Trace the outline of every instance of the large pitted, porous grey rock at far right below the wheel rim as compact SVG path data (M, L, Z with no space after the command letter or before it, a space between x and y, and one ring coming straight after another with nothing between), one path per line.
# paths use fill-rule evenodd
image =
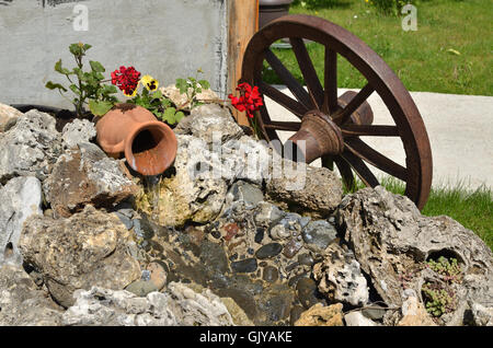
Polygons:
M456 258L460 279L450 290L459 304L444 316L444 324L458 324L467 301L493 302L493 254L472 231L448 217L424 217L406 197L383 187L365 188L342 200L337 225L345 241L354 247L362 269L389 306L402 305L402 289L413 289L419 297L425 282L450 282L426 267L439 256Z

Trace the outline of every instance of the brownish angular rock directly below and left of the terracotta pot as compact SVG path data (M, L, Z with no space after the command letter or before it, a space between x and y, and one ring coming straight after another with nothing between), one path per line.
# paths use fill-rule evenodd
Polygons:
M56 216L69 217L85 205L113 208L137 193L137 186L98 146L83 142L67 150L43 185Z

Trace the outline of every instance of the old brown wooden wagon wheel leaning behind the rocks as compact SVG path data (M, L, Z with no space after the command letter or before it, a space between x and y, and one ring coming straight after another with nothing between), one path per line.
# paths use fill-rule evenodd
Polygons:
M288 38L308 92L271 50L271 45ZM306 40L325 47L323 86L309 57ZM337 55L343 56L367 80L358 92L337 95ZM287 85L295 98L263 81L263 63ZM250 40L242 66L243 82L257 85L263 95L296 115L300 121L275 121L264 106L255 113L256 124L267 140L278 139L276 130L297 131L289 140L306 140L305 160L322 158L335 163L346 185L354 171L367 185L379 182L366 163L405 182L405 195L422 209L432 185L432 153L425 126L410 93L395 73L358 37L329 21L310 15L283 16L263 27ZM394 125L372 125L366 102L378 93ZM399 137L405 151L405 167L369 147L359 137Z

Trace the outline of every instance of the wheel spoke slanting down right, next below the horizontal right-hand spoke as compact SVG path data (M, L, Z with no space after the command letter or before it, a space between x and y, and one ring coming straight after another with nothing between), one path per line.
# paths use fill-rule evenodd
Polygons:
M400 178L401 181L408 181L408 170L405 167L393 162L380 152L375 151L359 138L346 139L345 146L351 152L365 160L369 164L397 178Z

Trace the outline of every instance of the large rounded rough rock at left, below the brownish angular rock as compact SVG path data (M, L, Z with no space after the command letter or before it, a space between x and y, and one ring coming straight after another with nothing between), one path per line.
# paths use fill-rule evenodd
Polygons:
M127 252L128 239L114 214L87 206L68 219L27 219L19 248L24 263L43 275L53 298L68 308L77 289L119 290L140 278L139 264Z

